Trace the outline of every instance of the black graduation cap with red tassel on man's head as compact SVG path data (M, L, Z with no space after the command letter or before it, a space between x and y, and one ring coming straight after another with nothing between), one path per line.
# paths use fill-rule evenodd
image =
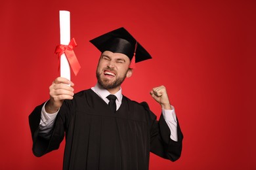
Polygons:
M135 68L135 63L152 58L145 48L123 27L100 35L90 42L100 52L108 50L110 52L125 54L131 60L131 69Z

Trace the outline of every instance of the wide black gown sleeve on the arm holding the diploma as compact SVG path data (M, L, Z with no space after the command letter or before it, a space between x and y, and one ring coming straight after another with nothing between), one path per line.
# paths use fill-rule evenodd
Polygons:
M43 103L44 104L44 103ZM52 150L56 150L59 148L60 143L64 139L64 131L67 119L67 112L70 109L67 109L67 103L64 101L58 115L56 116L56 120L54 122L53 130L50 131L51 137L50 139L45 139L39 135L39 124L41 120L41 109L43 104L35 107L33 112L29 116L29 123L30 123L30 131L32 133L32 140L33 140L33 154L37 157L43 156Z

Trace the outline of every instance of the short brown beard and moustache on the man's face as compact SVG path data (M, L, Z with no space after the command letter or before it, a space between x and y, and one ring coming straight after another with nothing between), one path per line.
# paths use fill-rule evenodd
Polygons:
M110 69L108 69L108 70L110 70ZM127 72L128 72L128 70L127 70ZM125 75L126 75L126 73L125 73ZM117 76L116 80L114 80L114 82L110 82L110 80L100 77L100 73L99 73L98 69L96 71L96 78L98 80L98 84L100 84L100 86L102 86L105 89L112 89L112 88L116 88L117 86L120 86L126 78L125 75Z

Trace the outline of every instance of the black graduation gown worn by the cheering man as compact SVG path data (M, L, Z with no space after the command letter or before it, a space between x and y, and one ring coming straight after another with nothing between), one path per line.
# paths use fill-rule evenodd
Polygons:
M33 154L58 149L65 135L63 169L148 169L150 152L171 161L181 156L179 125L175 142L163 116L158 122L146 103L123 96L114 114L93 90L84 90L64 101L50 139L38 133L42 106L29 116Z

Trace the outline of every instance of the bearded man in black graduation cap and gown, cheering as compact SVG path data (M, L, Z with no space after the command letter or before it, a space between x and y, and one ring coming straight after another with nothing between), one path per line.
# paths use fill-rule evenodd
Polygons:
M148 169L149 152L177 160L182 133L165 87L150 92L163 110L159 122L146 103L121 93L135 62L150 54L123 27L91 42L102 52L96 86L74 94L73 82L54 80L49 101L30 114L33 154L57 149L65 135L63 169Z

